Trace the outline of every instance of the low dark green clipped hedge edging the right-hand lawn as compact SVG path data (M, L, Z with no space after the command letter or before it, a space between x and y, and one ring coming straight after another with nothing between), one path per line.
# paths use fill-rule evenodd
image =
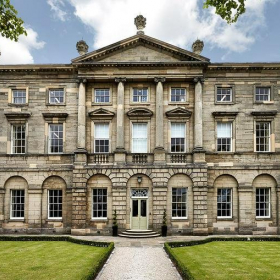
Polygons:
M178 247L187 247L187 246L195 246L195 245L201 245L206 244L213 241L280 241L280 237L210 237L203 240L191 240L191 241L183 241L183 242L165 242L164 243L164 249L166 253L168 254L171 261L176 266L177 270L181 274L182 278L184 280L194 280L194 277L192 276L191 272L187 267L184 266L184 264L178 259L173 253L172 248L178 248Z

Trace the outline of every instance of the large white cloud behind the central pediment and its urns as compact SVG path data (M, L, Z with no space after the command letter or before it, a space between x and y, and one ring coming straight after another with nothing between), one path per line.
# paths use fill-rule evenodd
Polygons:
M201 0L64 1L70 2L75 15L94 29L94 48L136 34L133 20L141 13L147 18L145 34L149 36L188 49L199 38L226 52L243 52L254 43L265 23L265 5L275 0L247 0L246 14L232 25L215 15L214 9L202 10Z

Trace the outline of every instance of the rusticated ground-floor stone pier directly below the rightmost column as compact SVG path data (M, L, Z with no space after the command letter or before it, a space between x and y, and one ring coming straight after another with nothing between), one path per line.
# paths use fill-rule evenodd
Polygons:
M208 235L207 169L194 169L193 180L193 234Z

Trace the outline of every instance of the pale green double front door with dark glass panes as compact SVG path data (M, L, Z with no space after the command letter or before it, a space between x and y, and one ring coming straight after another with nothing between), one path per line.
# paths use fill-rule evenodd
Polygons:
M131 229L147 229L148 199L132 198L131 205Z

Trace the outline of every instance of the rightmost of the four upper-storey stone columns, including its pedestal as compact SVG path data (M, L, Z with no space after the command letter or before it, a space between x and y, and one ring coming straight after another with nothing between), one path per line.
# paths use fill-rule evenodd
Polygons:
M205 151L203 150L203 128L202 128L202 78L195 78L195 102L194 102L194 149L193 162L205 162Z

